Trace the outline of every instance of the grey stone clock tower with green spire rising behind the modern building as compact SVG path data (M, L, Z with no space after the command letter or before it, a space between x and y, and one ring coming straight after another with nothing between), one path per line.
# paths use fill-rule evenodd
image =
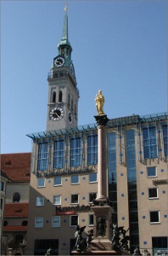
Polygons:
M67 7L64 8L63 36L58 55L48 74L47 131L77 126L79 90L71 60L72 47L68 39Z

